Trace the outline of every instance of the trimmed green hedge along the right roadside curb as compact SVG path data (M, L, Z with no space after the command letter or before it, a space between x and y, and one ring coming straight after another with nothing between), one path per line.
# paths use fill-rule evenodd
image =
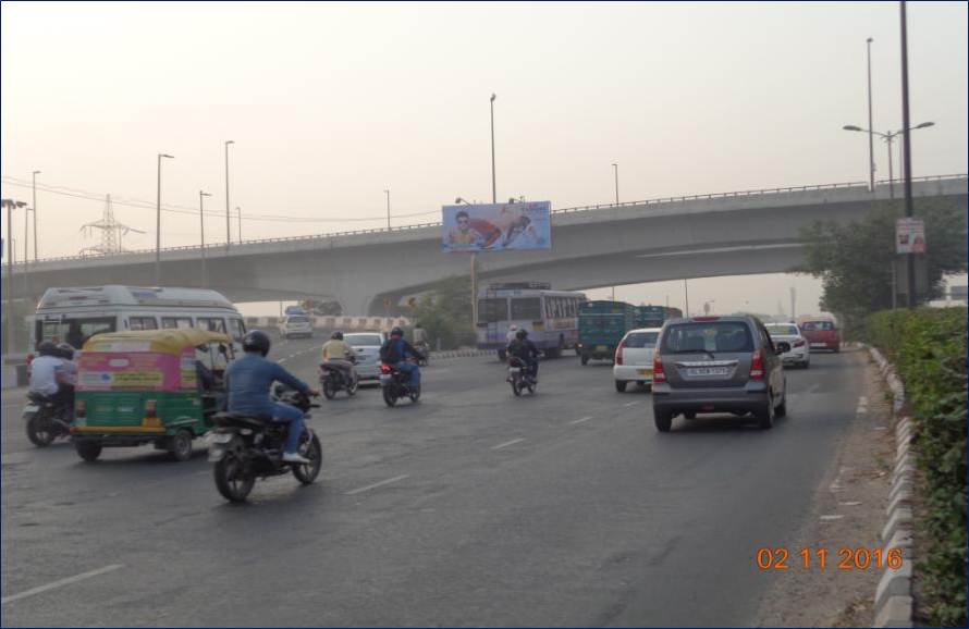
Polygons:
M866 336L905 383L928 514L918 570L927 620L965 627L966 617L966 308L888 310L866 320Z

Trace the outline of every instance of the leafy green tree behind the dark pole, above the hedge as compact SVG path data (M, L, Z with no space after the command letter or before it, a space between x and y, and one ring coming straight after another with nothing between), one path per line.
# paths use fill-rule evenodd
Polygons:
M801 230L805 263L795 272L820 278L822 309L834 312L847 330L867 314L892 307L895 220L899 201L880 201L860 221L818 221ZM942 293L946 273L966 271L966 208L947 199L916 199L915 215L925 222L929 295Z

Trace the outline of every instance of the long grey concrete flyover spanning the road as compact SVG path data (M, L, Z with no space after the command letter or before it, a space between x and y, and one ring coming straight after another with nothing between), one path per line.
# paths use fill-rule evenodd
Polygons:
M920 177L913 194L966 207L967 176ZM856 220L873 198L888 197L887 183L874 195L862 183L830 184L555 210L551 251L480 255L479 278L586 289L784 272L801 260L801 225ZM396 305L443 278L466 274L469 266L467 256L441 251L437 223L217 245L206 247L206 258L208 287L234 301L329 297L346 312L371 316L393 313L385 300ZM49 286L150 285L154 262L154 250L40 260L32 264L28 296ZM199 286L200 249L164 249L162 283ZM23 282L13 287L15 298L24 295Z

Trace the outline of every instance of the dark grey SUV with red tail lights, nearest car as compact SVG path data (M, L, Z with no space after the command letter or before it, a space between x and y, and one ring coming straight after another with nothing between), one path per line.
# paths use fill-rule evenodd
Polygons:
M674 319L663 325L653 355L653 418L667 432L679 414L752 412L760 428L787 412L787 380L774 343L750 316Z

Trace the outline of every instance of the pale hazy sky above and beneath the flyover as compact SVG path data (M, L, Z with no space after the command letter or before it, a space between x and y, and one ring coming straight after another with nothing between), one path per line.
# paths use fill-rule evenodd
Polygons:
M912 123L935 123L912 173L965 173L967 4L908 13ZM898 130L894 2L4 1L0 187L29 201L41 171L41 257L97 245L81 226L107 194L144 232L125 246L150 248L171 153L162 202L184 213L163 213L162 246L198 243L199 190L207 240L224 242L231 139L233 239L236 207L246 239L381 226L385 189L393 224L431 222L456 196L490 200L492 92L502 199L610 202L612 163L623 201L863 182L867 138L842 127L867 125L868 37L874 128ZM883 143L875 161L887 177ZM821 294L787 275L696 282L725 309L774 312L795 286L810 311Z

